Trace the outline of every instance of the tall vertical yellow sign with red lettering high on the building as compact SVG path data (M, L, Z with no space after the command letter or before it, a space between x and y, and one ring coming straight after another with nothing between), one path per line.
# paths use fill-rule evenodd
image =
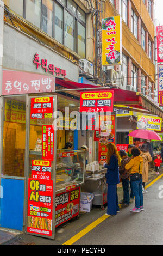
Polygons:
M122 19L102 19L102 65L122 64Z

